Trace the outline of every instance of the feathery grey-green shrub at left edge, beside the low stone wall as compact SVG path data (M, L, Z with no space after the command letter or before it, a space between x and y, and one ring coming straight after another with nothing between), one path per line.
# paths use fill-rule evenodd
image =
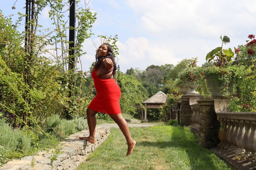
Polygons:
M0 129L0 145L4 146L5 150L30 151L31 138L25 135L21 130L12 130L10 125L1 121Z

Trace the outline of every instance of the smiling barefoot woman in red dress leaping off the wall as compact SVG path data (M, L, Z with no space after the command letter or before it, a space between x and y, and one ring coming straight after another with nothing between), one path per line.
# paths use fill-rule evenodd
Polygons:
M86 110L90 135L89 137L79 138L94 144L96 127L95 115L98 112L106 113L116 122L123 132L128 145L128 151L125 156L129 156L136 142L132 140L128 124L121 114L119 105L121 91L114 79L115 73L116 63L113 57L113 49L109 44L103 43L96 51L96 64L92 71L92 78L97 95Z

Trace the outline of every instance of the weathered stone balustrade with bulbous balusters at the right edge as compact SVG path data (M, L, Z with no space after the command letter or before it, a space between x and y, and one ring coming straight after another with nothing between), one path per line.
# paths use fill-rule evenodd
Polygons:
M238 146L245 151L256 151L256 113L222 112L216 113L221 123L220 146Z

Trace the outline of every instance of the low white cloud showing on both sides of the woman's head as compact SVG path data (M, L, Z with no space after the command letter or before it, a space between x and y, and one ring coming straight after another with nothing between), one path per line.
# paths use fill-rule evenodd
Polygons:
M100 44L100 39L94 39L93 42ZM144 37L129 38L125 43L117 42L119 56L117 64L121 71L127 69L140 68L145 70L149 65L164 65L166 63L176 65L179 59L175 58L172 49L163 44L155 44ZM89 70L89 67L95 62L96 47L91 40L85 40L84 51L86 55L81 57L83 70Z

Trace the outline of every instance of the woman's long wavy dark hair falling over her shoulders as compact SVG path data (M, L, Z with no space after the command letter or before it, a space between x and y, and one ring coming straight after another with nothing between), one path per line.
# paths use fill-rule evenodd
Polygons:
M96 62L95 62L95 65L94 65L93 69L95 69L95 68L98 69L104 58L110 58L113 62L113 66L114 66L113 76L115 76L115 74L116 74L116 62L115 62L115 59L114 59L114 56L113 56L113 48L111 47L110 44L107 44L107 43L103 43L103 44L105 44L108 47L108 53L107 53L107 55L105 55L105 56L103 56L102 58L99 59L99 57L97 55L97 50L96 50L96 55L95 55Z

